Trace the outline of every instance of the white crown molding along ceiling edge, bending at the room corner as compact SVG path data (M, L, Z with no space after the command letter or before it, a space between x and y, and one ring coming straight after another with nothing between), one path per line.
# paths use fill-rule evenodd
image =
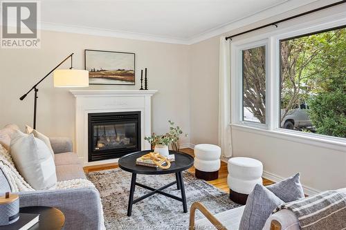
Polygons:
M121 30L109 30L102 28L92 28L92 27L84 27L84 26L71 26L60 23L48 23L42 22L41 28L42 30L51 30L57 32L71 32L83 35L95 35L102 37L117 37L123 39L136 39L143 41L156 41L170 44L181 44L181 45L192 45L199 43L200 41L210 39L211 37L215 37L218 35L225 34L232 30L236 30L242 28L244 26L251 25L251 23L255 23L256 21L262 21L264 19L268 19L270 17L275 17L284 12L288 12L289 10L294 10L296 8L301 8L302 6L309 5L318 0L306 0L304 3L300 0L285 0L282 3L277 3L275 6L271 6L270 8L266 8L264 10L257 11L252 15L248 15L243 17L242 19L237 19L235 21L230 21L225 23L224 25L218 26L216 28L212 28L206 32L203 32L194 37L190 37L188 39L179 38L179 37L164 37L158 35L149 35L143 33L136 32L127 32ZM327 0L332 1L332 0Z

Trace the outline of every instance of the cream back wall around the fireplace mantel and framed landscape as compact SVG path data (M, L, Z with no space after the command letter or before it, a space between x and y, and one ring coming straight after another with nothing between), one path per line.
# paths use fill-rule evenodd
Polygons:
M0 127L9 123L33 124L33 92L19 97L66 56L75 52L75 68L84 68L84 49L136 53L136 86L90 86L91 89L139 89L140 69L148 68L149 89L158 90L152 99L152 131L165 133L168 119L190 133L188 46L152 41L116 39L42 31L40 49L0 50ZM65 68L69 68L69 61ZM70 88L53 88L49 76L39 85L37 129L49 136L74 138L75 98ZM189 143L188 137L182 137Z

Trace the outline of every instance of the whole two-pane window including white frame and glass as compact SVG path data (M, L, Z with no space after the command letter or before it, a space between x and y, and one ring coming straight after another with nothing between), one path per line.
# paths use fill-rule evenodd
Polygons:
M345 25L321 18L233 39L231 126L345 151Z

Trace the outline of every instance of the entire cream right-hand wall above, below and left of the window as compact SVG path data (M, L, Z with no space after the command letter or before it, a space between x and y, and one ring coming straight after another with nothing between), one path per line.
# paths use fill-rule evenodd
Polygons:
M317 1L310 6L286 12L284 15L258 21L252 25L238 30L230 31L226 35L255 28L265 23L283 19L300 12L305 12L319 6L324 6L331 1ZM346 6L323 10L313 15L280 23L280 28L296 25L307 20L334 15L345 12ZM247 37L269 32L275 28L264 28L257 32L235 37ZM191 76L190 86L190 124L192 144L202 142L217 143L218 133L218 68L219 68L219 36L201 41L190 46ZM246 129L233 129L233 156L248 156L261 160L267 175L275 178L286 178L296 172L301 172L302 183L310 187L311 191L337 189L346 187L346 149L336 151L327 147L302 144L279 137L251 133ZM309 191L307 191L309 193Z

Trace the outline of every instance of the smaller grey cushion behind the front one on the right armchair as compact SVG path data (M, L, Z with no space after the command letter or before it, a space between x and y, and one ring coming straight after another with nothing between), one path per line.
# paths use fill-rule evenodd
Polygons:
M297 173L291 178L266 186L266 188L284 202L292 202L305 197L299 178L300 173Z

